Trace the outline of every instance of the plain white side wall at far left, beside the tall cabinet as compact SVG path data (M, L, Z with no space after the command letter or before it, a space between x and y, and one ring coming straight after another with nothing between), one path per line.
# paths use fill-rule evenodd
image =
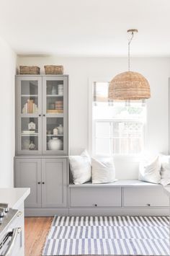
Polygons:
M14 180L14 75L17 57L0 38L0 187Z

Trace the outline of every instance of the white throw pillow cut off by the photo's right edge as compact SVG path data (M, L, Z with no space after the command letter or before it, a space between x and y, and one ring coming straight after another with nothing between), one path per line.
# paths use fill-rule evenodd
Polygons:
M166 186L170 184L170 156L161 154L161 184Z

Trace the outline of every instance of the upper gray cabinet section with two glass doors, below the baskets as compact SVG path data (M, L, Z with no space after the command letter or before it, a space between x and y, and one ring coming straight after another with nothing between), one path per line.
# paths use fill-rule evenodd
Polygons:
M68 76L17 76L17 155L68 155Z

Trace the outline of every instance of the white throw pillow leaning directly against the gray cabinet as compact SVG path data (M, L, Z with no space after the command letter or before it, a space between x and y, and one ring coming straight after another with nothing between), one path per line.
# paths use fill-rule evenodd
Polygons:
M81 156L69 156L69 164L74 184L79 185L91 180L91 158L86 150Z

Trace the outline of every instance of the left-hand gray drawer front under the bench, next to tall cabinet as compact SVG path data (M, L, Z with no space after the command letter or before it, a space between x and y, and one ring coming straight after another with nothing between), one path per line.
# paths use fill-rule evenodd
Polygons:
M121 206L120 187L71 187L71 207Z

